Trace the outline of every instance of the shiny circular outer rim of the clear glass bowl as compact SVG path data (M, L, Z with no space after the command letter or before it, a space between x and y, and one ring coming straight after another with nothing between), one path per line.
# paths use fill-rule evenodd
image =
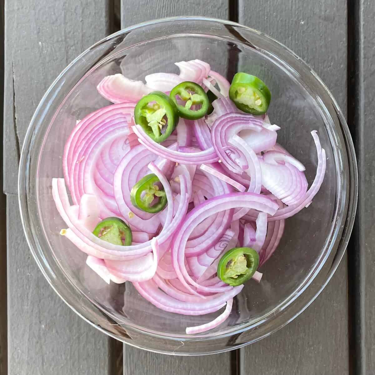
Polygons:
M211 23L219 23L219 24L222 24L222 25L229 25L229 26L233 26L233 27L236 27L236 28L245 29L245 30L250 31L252 33L259 34L259 36L261 36L265 40L272 41L274 44L277 45L278 48L283 49L283 51L288 53L292 58L298 59L299 62L303 64L303 68L309 69L310 73L315 77L316 81L321 86L321 88L324 90L325 94L327 94L331 104L333 105L334 111L336 112L338 120L340 122L340 128L341 128L341 131L342 131L343 140L345 141L346 152L347 152L347 162L348 162L348 168L349 168L348 177L349 177L349 184L350 184L349 190L350 191L349 191L349 194L348 194L348 207L347 207L347 211L346 211L346 217L343 216L343 218L342 218L342 221L345 222L345 223L343 225L344 227L343 227L341 239L336 239L336 240L339 240L340 243L337 245L336 257L333 260L333 263L331 265L331 268L330 268L330 270L327 274L327 278L325 279L324 283L322 283L320 285L320 287L316 289L315 294L312 297L310 297L310 299L306 302L306 304L302 308L298 309L298 311L296 313L294 313L287 321L285 321L283 324L281 324L277 327L274 327L274 329L269 330L265 335L262 335L261 337L255 339L255 340L245 342L245 343L241 343L241 344L238 344L238 345L233 345L233 346L230 346L230 347L225 347L223 350L215 350L215 351L212 351L212 352L205 352L205 353L179 352L178 353L180 355L200 355L200 354L204 355L204 354L221 353L221 352L224 352L224 351L239 348L239 347L242 347L244 345L250 344L252 342L258 341L258 340L260 340L264 337L267 337L267 336L271 335L271 333L276 332L277 330L279 330L280 328L282 328L283 326L288 324L290 321L294 320L294 318L296 318L298 315L300 315L316 299L316 297L321 293L321 291L324 289L325 285L327 285L328 281L333 276L333 273L336 271L343 255L345 254L346 246L347 246L348 241L349 241L349 236L351 234L351 231L352 231L352 228L353 228L353 225L354 225L354 218L355 218L355 212L356 212L356 208L357 208L357 197L358 197L358 172L357 172L357 161L356 161L356 158L355 158L354 145L353 145L353 142L352 142L352 139L351 139L351 136L350 136L348 126L347 126L346 121L345 121L345 117L343 116L343 113L340 110L336 100L333 98L333 95L328 90L328 88L325 86L323 81L318 77L318 75L315 73L315 71L313 71L310 68L310 66L306 62L304 62L303 59L298 57L291 49L289 49L288 47L286 47L282 43L278 42L276 39L268 36L265 33L262 33L261 31L255 30L254 28L250 28L250 27L241 25L239 23L235 23L233 21L220 20L220 19L217 19L217 18L209 18L209 17L195 17L195 16L167 17L167 18L160 18L160 19L155 19L155 20L151 20L151 21L146 21L146 22L143 22L143 23L139 23L139 24L124 28L122 30L117 31L116 33L113 33L113 34L110 34L110 35L104 37L103 39L99 40L98 42L96 42L95 44L93 44L92 46L87 48L80 55L78 55L78 57L76 57L58 75L56 80L53 81L53 83L48 88L47 92L44 94L43 98L39 102L39 105L36 108L36 111L35 111L32 119L31 119L29 127L27 129L26 136L25 136L24 143L23 143L22 152L21 152L20 168L19 168L19 175L18 175L18 201L19 201L19 207L20 207L20 212L21 212L21 222L22 222L24 233L26 235L26 240L27 240L27 243L29 245L30 251L32 252L33 258L35 259L36 263L38 264L38 267L41 269L41 271L42 271L44 277L47 279L48 283L51 285L53 290L60 296L60 298L75 313L77 313L81 318L83 318L85 321L87 321L89 324L96 327L100 331L106 333L107 335L109 335L109 336L111 336L111 337L113 337L117 340L126 342L127 344L138 347L138 348L142 348L142 349L145 349L145 350L154 351L154 352L158 352L158 353L170 354L171 353L170 351L155 350L155 348L150 349L148 347L143 347L143 345L135 344L133 341L127 341L122 336L118 336L118 335L114 334L113 332L108 331L108 329L106 329L106 328L104 328L104 327L102 327L98 324L95 324L92 320L90 320L89 317L87 317L86 315L84 315L80 311L78 311L78 309L75 306L72 306L72 303L70 303L67 296L63 296L62 293L60 293L60 291L55 286L55 284L53 282L53 279L51 278L51 275L48 273L48 272L51 272L51 270L48 269L48 267L46 267L45 264L43 264L41 259L38 257L38 251L34 248L34 246L38 246L38 245L35 242L35 238L33 238L33 234L30 232L29 228L27 227L27 225L29 224L29 221L30 221L29 220L29 214L30 213L27 209L27 206L28 206L27 205L28 189L27 189L27 181L26 181L27 179L24 178L23 168L25 168L25 166L28 165L27 162L29 161L29 158L28 158L29 148L30 148L30 143L31 143L32 138L33 138L33 133L36 131L36 120L37 120L37 117L42 112L43 107L46 104L46 101L48 99L48 96L55 89L55 87L59 83L59 81L62 80L62 78L65 76L65 74L81 58L84 58L84 56L86 54L88 54L92 49L95 49L97 46L100 46L102 43L105 43L105 42L107 42L111 39L114 39L118 36L121 36L123 34L129 33L132 30L136 30L136 29L146 27L146 26L150 26L150 25L154 25L154 24L163 24L163 23L175 22L175 21L202 21L202 22L207 21L207 22L211 22ZM24 194L24 196L23 196L23 194ZM334 240L333 243L335 243L336 240ZM330 252L332 251L332 248L333 248L333 245L330 245ZM328 255L330 254L330 252L328 253ZM327 261L327 257L325 258L322 266L324 266L326 261ZM307 283L305 283L305 285L303 285L301 290L298 290L298 294L295 296L295 298L290 299L289 298L290 296L287 298L287 300L289 300L289 302L288 302L288 304L286 304L286 306L289 306L291 303L293 303L294 300L297 299L313 283L313 281L315 280L319 271L320 271L320 268L313 273L312 277L309 279L309 281ZM72 287L77 288L74 285L72 285ZM127 325L124 323L124 326L127 326ZM241 326L243 326L243 324ZM194 336L191 336L191 339L185 338L185 337L184 338L182 338L182 337L181 338L179 338L179 337L167 337L165 335L164 336L156 335L156 336L158 336L160 338L163 338L164 340L169 339L169 340L175 340L175 341L178 341L178 342L184 341L185 343L186 342L197 342L197 341L208 341L209 342L213 339L219 339L219 338L225 338L225 337L228 337L228 336L238 335L239 333L246 332L250 328L251 328L251 326L248 325L246 327L241 327L241 328L238 328L238 329L230 330L230 332L224 332L224 333L216 334L216 335L211 336L211 337L204 337L202 339L194 337ZM142 333L143 335L146 335L146 336L147 335L148 336L154 336L152 333L150 333L146 330L139 330L139 332Z

